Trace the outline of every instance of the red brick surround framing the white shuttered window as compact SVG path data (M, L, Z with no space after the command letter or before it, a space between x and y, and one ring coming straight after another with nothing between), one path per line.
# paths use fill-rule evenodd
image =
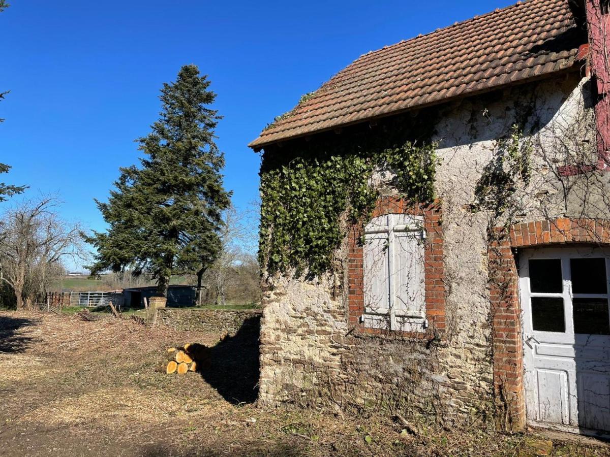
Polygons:
M384 214L412 214L423 216L426 230L424 251L426 317L429 328L445 328L445 267L443 263L443 227L440 202L432 205L409 205L398 197L382 197L377 201L373 217ZM365 328L359 319L364 314L364 258L362 257L361 228L350 228L348 236L348 315L350 326L363 333L380 334L387 330ZM393 332L409 338L425 338L429 333Z

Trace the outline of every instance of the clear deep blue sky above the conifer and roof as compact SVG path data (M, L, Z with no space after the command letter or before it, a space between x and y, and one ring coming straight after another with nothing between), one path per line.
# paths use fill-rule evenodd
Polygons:
M260 161L246 144L301 94L365 52L511 3L13 0L0 14L0 162L13 169L0 180L57 193L64 218L102 230L93 198L137 161L162 83L195 63L218 94L224 182L244 209Z

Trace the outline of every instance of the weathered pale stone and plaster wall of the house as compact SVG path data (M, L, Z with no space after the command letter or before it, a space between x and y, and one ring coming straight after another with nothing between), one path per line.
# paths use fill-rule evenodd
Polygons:
M428 331L425 338L406 338L390 331L366 335L350 324L346 238L336 255L343 261L343 278L306 280L287 274L269 280L261 322L259 401L400 410L448 425L493 414L487 253L489 228L506 221L490 211L473 211L476 184L493 160L497 139L519 124L530 132L535 151L531 183L515 195L521 211L512 217L529 222L573 211L581 217L587 212L610 217L608 202L599 204L607 178L595 190L577 180L566 188L556 175L557 166L583 159L576 157L578 147L594 146L586 86L586 79L570 74L437 108L445 328ZM585 197L590 203L583 203Z

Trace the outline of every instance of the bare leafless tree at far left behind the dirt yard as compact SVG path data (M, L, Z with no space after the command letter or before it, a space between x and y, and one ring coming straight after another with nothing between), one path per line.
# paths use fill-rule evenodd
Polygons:
M63 272L62 260L84 252L81 226L57 216L57 199L27 200L9 209L0 222L0 280L24 308Z

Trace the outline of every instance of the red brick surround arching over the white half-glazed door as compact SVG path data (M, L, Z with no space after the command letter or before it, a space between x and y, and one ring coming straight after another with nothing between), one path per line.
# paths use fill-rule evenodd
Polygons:
M551 219L496 228L490 233L489 292L492 310L493 386L505 409L503 427L526 424L519 272L515 252L526 247L610 244L608 219Z

